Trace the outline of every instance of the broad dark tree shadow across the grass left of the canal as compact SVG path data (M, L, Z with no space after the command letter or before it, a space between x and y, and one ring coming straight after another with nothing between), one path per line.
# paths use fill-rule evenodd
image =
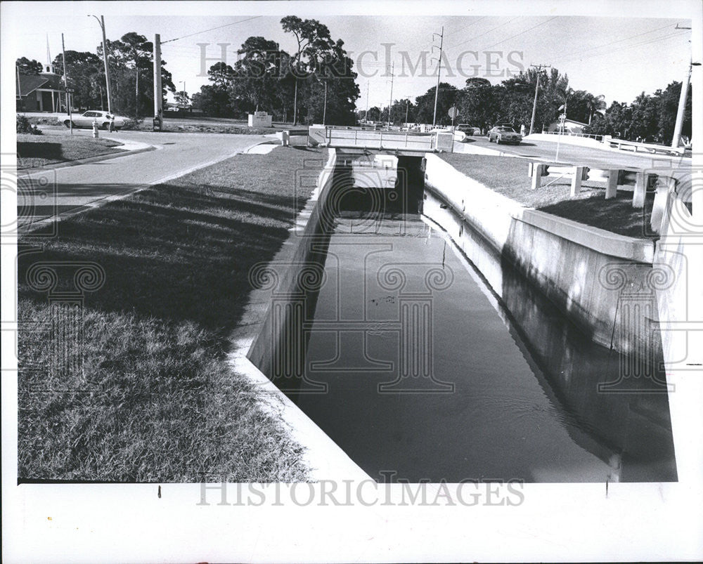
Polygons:
M294 204L292 195L224 186L149 188L62 223L63 244L20 258L19 295L46 303L24 283L37 261L93 261L105 285L86 296L86 307L192 321L225 336L246 304L249 269L288 237ZM57 289L71 284L59 280Z

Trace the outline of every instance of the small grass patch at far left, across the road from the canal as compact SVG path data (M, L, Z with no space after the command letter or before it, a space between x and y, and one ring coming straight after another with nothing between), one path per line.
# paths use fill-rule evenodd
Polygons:
M120 145L122 143L102 138L93 139L84 136L71 137L46 133L37 136L18 133L17 168L18 170L34 169L47 164L122 152L120 149L114 148Z

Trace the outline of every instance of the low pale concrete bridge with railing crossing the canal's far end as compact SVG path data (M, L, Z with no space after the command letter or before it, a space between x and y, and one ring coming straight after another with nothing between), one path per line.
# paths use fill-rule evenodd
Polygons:
M381 152L418 157L426 152L452 152L451 131L415 133L382 131L360 127L311 126L309 141L313 145L343 149L344 152Z

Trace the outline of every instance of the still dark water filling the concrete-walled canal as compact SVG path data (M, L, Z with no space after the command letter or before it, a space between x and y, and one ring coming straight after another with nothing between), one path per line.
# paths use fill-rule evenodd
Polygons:
M446 206L421 183L347 165L303 321L306 385L285 393L349 457L380 481L676 480L666 393L598 391L617 355L494 256L498 297L423 216Z

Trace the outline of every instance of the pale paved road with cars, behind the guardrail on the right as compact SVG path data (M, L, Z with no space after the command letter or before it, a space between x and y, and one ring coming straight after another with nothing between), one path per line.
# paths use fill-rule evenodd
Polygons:
M538 157L554 160L557 157L557 143L544 140L525 140L520 145L496 145L489 143L487 137L471 137L469 143L462 145L475 145L502 152L511 152L522 157ZM468 148L468 147L467 147ZM644 155L624 151L581 147L559 143L559 162L568 164L583 164L591 168L614 169L618 167L651 169L673 166L676 168L689 167L690 158L667 157L664 155Z

